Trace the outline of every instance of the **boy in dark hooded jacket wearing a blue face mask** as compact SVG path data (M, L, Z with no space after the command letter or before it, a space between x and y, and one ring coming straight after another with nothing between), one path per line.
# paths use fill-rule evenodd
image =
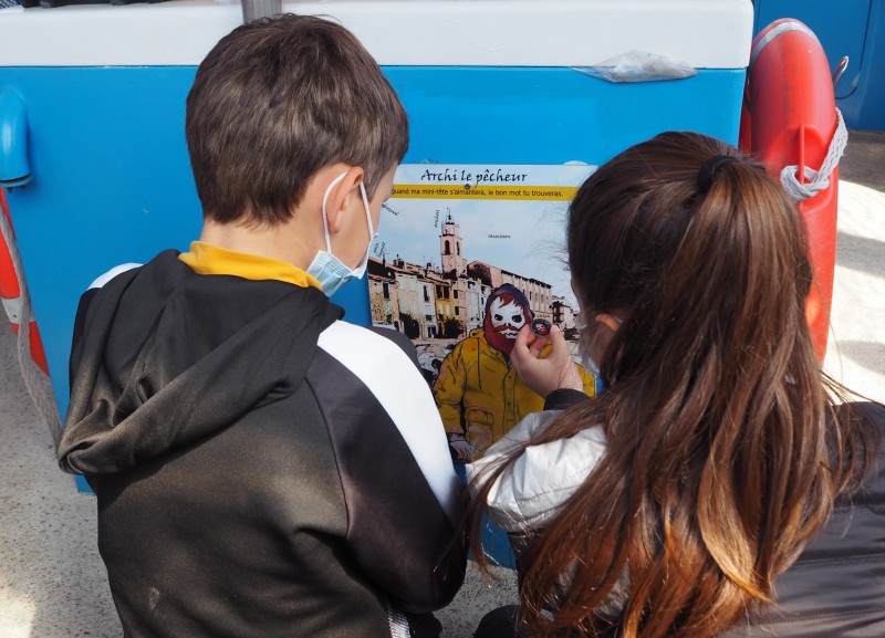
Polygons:
M441 422L407 339L326 296L365 270L403 106L345 29L281 15L208 54L186 134L200 240L83 295L59 449L124 632L434 635L465 569Z

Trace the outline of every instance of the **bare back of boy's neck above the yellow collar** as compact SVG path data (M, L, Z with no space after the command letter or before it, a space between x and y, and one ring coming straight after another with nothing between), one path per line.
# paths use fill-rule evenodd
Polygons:
M200 241L248 254L268 257L306 269L316 255L316 249L299 241L292 223L274 227L246 228L236 223L205 220Z

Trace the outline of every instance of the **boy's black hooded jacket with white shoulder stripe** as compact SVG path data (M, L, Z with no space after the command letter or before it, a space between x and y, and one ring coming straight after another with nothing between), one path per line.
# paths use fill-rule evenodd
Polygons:
M125 636L397 636L450 602L457 479L410 343L177 255L84 294L71 356L59 458Z

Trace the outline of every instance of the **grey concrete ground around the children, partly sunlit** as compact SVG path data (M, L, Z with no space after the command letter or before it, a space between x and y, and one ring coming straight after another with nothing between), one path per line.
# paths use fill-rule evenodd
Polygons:
M841 165L839 252L825 367L885 401L885 133L853 132ZM122 635L95 547L95 500L55 464L52 438L19 375L0 322L0 638ZM512 572L471 568L438 614L446 638L469 638L489 609L516 598Z

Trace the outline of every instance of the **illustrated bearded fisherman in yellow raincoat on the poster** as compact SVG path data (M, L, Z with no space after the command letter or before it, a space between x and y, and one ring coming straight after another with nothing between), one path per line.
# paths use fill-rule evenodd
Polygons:
M525 387L510 366L517 334L532 320L525 295L503 284L486 301L482 327L471 331L442 360L434 397L454 460L481 457L525 415L543 409L544 399ZM592 395L594 378L575 365L584 391Z

